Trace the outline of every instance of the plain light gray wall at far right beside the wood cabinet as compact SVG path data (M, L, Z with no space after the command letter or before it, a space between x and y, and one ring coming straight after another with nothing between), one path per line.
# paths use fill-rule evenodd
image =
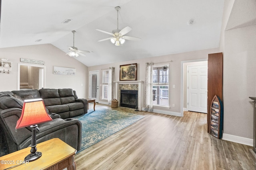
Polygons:
M255 0L225 1L220 49L224 52L224 139L231 141L232 135L253 139L253 105L248 97L256 96L255 13Z

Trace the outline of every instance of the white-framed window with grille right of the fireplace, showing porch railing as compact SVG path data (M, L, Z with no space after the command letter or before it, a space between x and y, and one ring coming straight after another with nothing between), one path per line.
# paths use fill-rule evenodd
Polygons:
M169 107L169 64L153 64L153 105Z

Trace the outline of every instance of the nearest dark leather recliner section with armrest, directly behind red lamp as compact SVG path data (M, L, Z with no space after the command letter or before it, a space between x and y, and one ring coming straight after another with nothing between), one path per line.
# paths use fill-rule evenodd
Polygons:
M0 123L8 141L9 153L24 149L31 145L31 128L15 129L22 109L10 108L0 111ZM81 147L82 123L77 119L60 119L38 124L40 131L36 131L36 142L41 143L52 138L59 138L76 150Z

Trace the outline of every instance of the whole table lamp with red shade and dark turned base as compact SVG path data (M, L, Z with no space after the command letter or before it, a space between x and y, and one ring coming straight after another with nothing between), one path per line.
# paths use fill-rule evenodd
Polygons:
M39 123L52 121L52 118L46 112L42 99L24 100L20 119L16 124L16 129L30 126L32 129L32 140L30 154L25 157L26 161L34 161L42 156L42 152L36 152L36 129Z

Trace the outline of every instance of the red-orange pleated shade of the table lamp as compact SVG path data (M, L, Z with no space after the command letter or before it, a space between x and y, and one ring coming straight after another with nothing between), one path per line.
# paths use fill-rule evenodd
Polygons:
M28 127L51 121L52 118L46 112L42 99L24 100L20 119L17 121L16 129Z

